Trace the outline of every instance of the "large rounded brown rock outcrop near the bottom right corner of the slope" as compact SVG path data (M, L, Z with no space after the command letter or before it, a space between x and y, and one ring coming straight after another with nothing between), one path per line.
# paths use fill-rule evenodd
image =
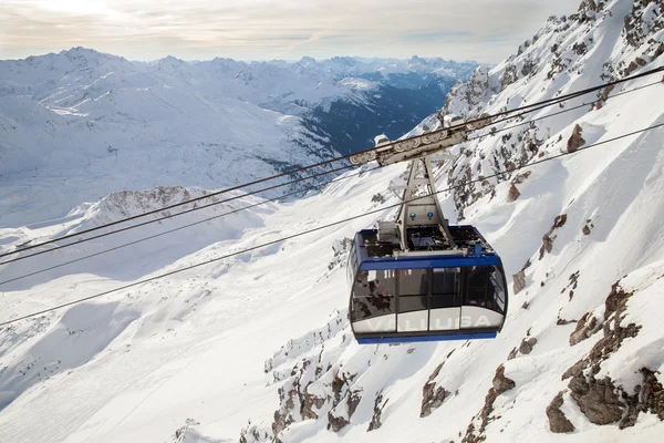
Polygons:
M610 424L622 419L623 404L609 377L585 380L582 374L577 375L570 381L569 388L572 399L591 423Z

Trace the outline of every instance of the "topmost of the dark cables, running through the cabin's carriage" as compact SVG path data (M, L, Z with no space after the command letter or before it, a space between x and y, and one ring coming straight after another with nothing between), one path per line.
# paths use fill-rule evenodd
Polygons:
M614 80L612 82L603 83L603 84L598 85L598 86L592 86L592 87L588 87L588 89L584 89L584 90L581 90L581 91L575 91L573 93L560 95L560 96L553 97L553 99L548 99L548 100L540 101L540 102L537 102L537 103L533 103L533 104L529 104L529 105L525 105L525 106L519 106L519 107L516 107L513 110L502 111L502 112L499 112L499 113L490 115L489 119L496 119L496 117L500 117L500 116L507 116L509 114L512 114L512 113L516 113L516 112L520 112L520 114L517 114L517 116L516 116L516 117L518 117L520 115L538 111L538 109L533 109L533 107L537 107L537 106L546 107L546 106L556 105L556 104L558 104L558 103L560 103L562 101L574 99L574 97L578 97L578 96L581 96L581 95L584 95L584 94L589 94L591 92L599 91L599 90L601 90L603 87L614 86L614 85L620 84L620 83L629 82L629 81L632 81L632 80L636 80L636 79L640 79L640 78L643 78L643 76L646 76L646 75L652 75L652 74L655 74L655 73L658 73L658 72L663 72L663 71L664 71L664 66L655 68L653 70L644 71L644 72L642 72L640 74L635 74L635 75L632 75L632 76L629 76L629 78L624 78L624 79L620 79L620 80ZM540 107L540 109L542 109L542 107ZM502 121L510 120L510 119L513 119L513 117L515 116L505 117L502 120L494 122L494 124L495 123L500 123ZM470 124L471 125L473 123L476 123L476 122L484 122L486 119L487 117L484 117L484 119L479 117L479 119L468 120L466 122L466 124ZM433 133L436 133L436 132L439 132L439 131L445 131L445 130L444 128L437 130L437 131L434 131ZM393 143L396 143L396 142L393 142ZM384 147L385 147L385 145L381 146L381 148L384 148ZM21 251L33 249L33 248L37 248L37 247L40 247L40 246L50 245L50 244L53 244L55 241L60 241L60 240L64 240L64 239L68 239L68 238L72 238L72 237L81 236L81 235L84 235L84 234L89 234L89 233L92 233L92 231L96 231L96 230L100 230L100 229L104 229L104 228L107 228L107 227L111 227L111 226L116 226L116 225L120 225L120 224L123 224L123 223L126 223L126 222L135 220L135 219L141 218L141 217L145 217L145 216L148 216L148 215L157 214L157 213L160 213L163 210L168 210L168 209L173 209L173 208L178 207L178 206L187 205L189 203L199 202L199 200L205 199L205 198L211 198L211 197L215 197L215 196L220 195L220 194L229 193L231 190L238 190L238 189L243 188L243 187L252 186L252 185L256 185L256 184L259 184L259 183L264 183L264 182L268 182L268 181L271 181L271 179L281 178L281 177L284 177L284 176L288 176L288 175L298 174L298 173L301 173L301 172L304 172L304 171L308 171L308 169L311 169L311 168L314 168L314 167L321 167L321 166L324 166L324 165L328 165L328 164L331 164L331 163L334 163L334 162L340 162L342 159L347 159L351 156L356 155L356 154L369 153L369 152L372 152L372 151L375 151L375 150L376 150L376 147L372 147L372 148L360 151L360 152L356 152L356 153L346 154L346 155L343 155L343 156L340 156L340 157L325 159L325 161L322 161L322 162L319 162L319 163L315 163L315 164L312 164L312 165L309 165L309 166L302 166L302 167L299 167L299 168L295 168L295 169L291 169L291 171L287 171L287 172L283 172L283 173L280 173L280 174L277 174L277 175L272 175L272 176L269 176L269 177L259 178L259 179L256 179L256 181L250 182L250 183L238 185L238 186L235 186L235 187L231 187L231 188L221 189L221 190L218 190L218 192L215 192L215 193L211 193L211 194L207 194L205 196L191 198L189 200L180 202L180 203L177 203L177 204L174 204L174 205L169 205L169 206L166 206L166 207L163 207L163 208L153 209L153 210L149 210L149 212L146 212L146 213L143 213L143 214L137 214L135 216L131 216L131 217L127 217L127 218L124 218L124 219L121 219L121 220L111 222L108 224L100 225L100 226L96 226L96 227L93 227L93 228L89 228L89 229L85 229L85 230L82 230L82 231L79 231L79 233L68 234L68 235L64 235L64 236L61 236L61 237L52 238L52 239L46 240L46 241L42 241L42 243L39 243L39 244L34 244L34 245L29 245L29 246L25 246L25 247L23 247L21 249L18 249L18 250L12 250L12 251L0 254L0 258L7 257L7 256L10 256L10 255L15 255L15 254L19 254Z

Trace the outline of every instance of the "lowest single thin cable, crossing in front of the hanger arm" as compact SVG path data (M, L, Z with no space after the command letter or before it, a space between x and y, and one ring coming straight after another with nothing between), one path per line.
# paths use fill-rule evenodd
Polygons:
M92 300L92 299L95 299L95 298L107 296L107 295L113 293L113 292L117 292L117 291L121 291L121 290L129 289L129 288L133 288L133 287L143 285L143 284L146 284L146 282L151 282L151 281L159 280L159 279L163 279L163 278L166 278L166 277L170 277L170 276L176 275L176 274L180 274L180 272L184 272L184 271L187 271L187 270L196 269L196 268L199 268L201 266L209 265L209 264L212 264L212 262L216 262L216 261L220 261L220 260L224 260L226 258L239 256L241 254L246 254L246 253L249 253L249 251L252 251L252 250L256 250L256 249L261 249L261 248L264 248L264 247L268 247L268 246L271 246L271 245L283 243L283 241L290 240L292 238L297 238L297 237L301 237L301 236L307 235L307 234L311 234L311 233L315 233L315 231L319 231L319 230L323 230L323 229L326 229L326 228L330 228L330 227L333 227L333 226L338 226L338 225L341 225L341 224L344 224L344 223L347 223L347 222L352 222L352 220L355 220L355 219L359 219L359 218L362 218L362 217L366 217L369 215L374 215L374 214L383 213L383 212L385 212L387 209L393 209L393 208L400 207L404 203L412 203L412 202L415 202L415 200L427 198L427 197L429 197L430 195L434 195L434 194L446 193L446 192L449 192L449 190L453 190L453 189L456 189L456 188L459 188L459 187L465 187L465 186L467 186L469 184L473 184L473 183L483 182L483 181L485 181L487 178L500 177L500 176L502 176L505 174L509 174L509 173L512 173L512 172L516 172L516 171L520 171L520 169L523 169L523 168L527 168L527 167L532 167L532 166L536 166L536 165L539 165L539 164L542 164L542 163L546 163L546 162L550 162L552 159L557 159L557 158L564 157L564 156L568 156L568 155L578 154L580 152L588 151L588 150L590 150L592 147L596 147L596 146L600 146L600 145L603 145L603 144L606 144L606 143L615 142L618 140L622 140L622 138L625 138L625 137L629 137L629 136L632 136L632 135L636 135L636 134L640 134L640 133L652 131L652 130L655 130L655 128L662 127L662 126L664 126L664 123L660 123L660 124L656 124L656 125L653 125L653 126L649 126L649 127L645 127L645 128L642 128L642 130L633 131L633 132L627 133L627 134L622 134L622 135L615 136L613 138L609 138L609 140L605 140L605 141L602 141L602 142L593 143L593 144L588 145L588 146L582 146L579 150L573 151L573 152L563 152L563 153L560 153L560 154L557 154L557 155L553 155L553 156L550 156L550 157L547 157L547 158L542 158L542 159L539 159L539 161L526 164L523 166L517 166L517 167L513 167L513 168L510 168L510 169L507 169L507 171L501 171L499 173L489 175L487 177L483 177L481 179L476 178L476 179L473 179L473 181L468 181L468 182L466 182L464 184L454 185L454 186L447 187L445 189L437 190L437 192L435 192L433 194L429 194L429 195L426 195L426 196L414 197L412 199L408 199L408 200L405 200L405 202L402 202L402 203L397 203L395 205L384 206L384 207L378 208L378 209L370 210L367 213L360 214L360 215L352 216L352 217L347 217L347 218L344 218L342 220L329 223L329 224L323 225L323 226L319 226L319 227L315 227L315 228L311 228L311 229L307 229L307 230L303 230L303 231L300 231L300 233L295 233L295 234L292 234L292 235L289 235L289 236L286 236L286 237L272 240L272 241L268 241L268 243L264 243L264 244L261 244L261 245L252 246L252 247L249 247L249 248L236 251L236 253L231 253L231 254L227 254L225 256L211 258L209 260L201 261L201 262L198 262L198 264L194 264L194 265L190 265L190 266L186 266L184 268L178 268L178 269L175 269L175 270L172 270L172 271L168 271L168 272L160 274L158 276L145 278L143 280L135 281L133 284L124 285L124 286L121 286L121 287L117 287L117 288L114 288L114 289L110 289L110 290L106 290L106 291L103 291L103 292L98 292L98 293L95 293L95 295L92 295L92 296L89 296L89 297L84 297L84 298L80 298L80 299L76 299L76 300L68 301L65 303L61 303L61 305L58 305L58 306L54 306L54 307L51 307L51 308L48 308L48 309L42 309L40 311L32 312L32 313L29 313L29 315L25 315L25 316L22 316L22 317L18 317L15 319L11 319L11 320L7 320L7 321L3 321L3 322L0 322L0 327L7 326L7 324L11 324L11 323L15 323L15 322L21 321L21 320L25 320L25 319L29 319L29 318L32 318L32 317L41 316L41 315L44 315L44 313L48 313L48 312L52 312L52 311L55 311L55 310L59 310L59 309L62 309L62 308L66 308L69 306L73 306L73 305L77 305L77 303L81 303L81 302L84 302L84 301Z

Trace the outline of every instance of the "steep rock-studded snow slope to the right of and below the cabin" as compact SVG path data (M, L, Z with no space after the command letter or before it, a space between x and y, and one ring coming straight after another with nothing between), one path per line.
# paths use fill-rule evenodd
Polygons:
M662 1L584 1L454 87L446 111L497 113L661 66L663 14ZM654 313L664 289L664 132L528 165L664 123L663 99L661 76L642 79L456 147L440 172L439 187L455 187L444 206L479 226L515 275L502 333L359 347L342 315L332 324L343 327L302 334L267 361L279 409L241 441L655 440L664 431Z

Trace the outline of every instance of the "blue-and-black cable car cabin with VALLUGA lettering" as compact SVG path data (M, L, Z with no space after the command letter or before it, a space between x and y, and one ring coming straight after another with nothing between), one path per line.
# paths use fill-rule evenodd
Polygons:
M378 229L349 256L351 326L361 344L495 338L507 313L500 257L473 226L408 228L407 253Z

